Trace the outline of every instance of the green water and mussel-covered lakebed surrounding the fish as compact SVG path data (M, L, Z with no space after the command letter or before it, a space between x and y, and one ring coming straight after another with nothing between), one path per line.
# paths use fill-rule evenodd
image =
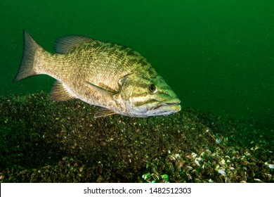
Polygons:
M1 181L273 182L274 1L0 0L0 21L0 171L4 170L0 174ZM119 115L94 122L94 113L89 113L86 109L89 106L85 103L52 103L48 99L54 82L51 77L39 75L13 82L22 57L22 30L27 30L37 43L51 52L56 38L70 34L129 46L147 58L164 77L181 99L183 109L169 117L151 117L154 125L149 125L147 119ZM79 112L74 108L87 110L86 115L77 117ZM56 114L52 111L54 109ZM57 110L63 111L63 114ZM94 111L93 108L91 111ZM205 115L207 113L216 117ZM227 118L223 120L225 123L220 117ZM91 123L85 122L81 126L73 125L73 121ZM238 121L249 122L245 123L248 127ZM72 125L64 129L67 122L72 122ZM122 128L121 122L126 122L123 124L128 126ZM171 123L174 124L169 125ZM94 136L89 139L92 136L88 132L89 125L98 128L93 130L95 136L100 136L107 129L114 133L105 134L103 139ZM128 139L132 133L121 133L125 129L138 131L138 136L133 134ZM149 129L155 134L151 134ZM21 133L18 133L19 130ZM165 132L170 136L167 141L162 141L159 136L164 136ZM117 144L113 144L115 134L122 137ZM157 139L145 142L143 137ZM229 137L234 137L233 143ZM254 140L260 138L261 141L256 144ZM84 141L87 139L94 146L86 146ZM123 139L127 142L122 142ZM26 144L19 146L16 142L19 140ZM209 147L190 148L195 141L204 142ZM220 145L219 141L223 144ZM75 148L79 143L80 148ZM169 147L171 143L177 148ZM38 148L37 144L44 145ZM159 148L144 154L143 151L150 146ZM115 148L125 152L129 150L129 153L112 153ZM89 150L103 154L94 155L88 153ZM258 150L263 151L256 152ZM121 161L115 160L119 158L117 153L129 156L121 156ZM96 162L86 163L90 157L96 158ZM133 160L134 157L136 160ZM161 160L161 157L164 159ZM124 160L126 164L123 164ZM189 162L182 164L183 160ZM227 160L230 160L229 164ZM107 165L110 161L112 165ZM208 161L210 170L207 170ZM230 166L231 163L233 166ZM129 167L131 165L133 167ZM72 169L74 174L68 177L49 173L63 172L64 169L67 172L71 166L76 167L76 171ZM103 171L101 166L108 171ZM200 169L202 166L205 166L204 171ZM237 169L236 166L240 170L231 170ZM113 169L116 175L107 174ZM95 177L83 178L94 170L97 173ZM228 176L229 170L235 174ZM80 172L85 175L77 177ZM198 172L202 173L202 177ZM168 178L165 177L167 174Z

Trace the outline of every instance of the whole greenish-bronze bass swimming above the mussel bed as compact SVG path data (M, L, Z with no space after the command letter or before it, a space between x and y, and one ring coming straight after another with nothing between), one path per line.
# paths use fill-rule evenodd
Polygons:
M53 101L80 99L100 107L94 117L171 115L181 101L155 68L133 49L89 37L56 39L50 53L23 30L24 51L15 81L34 75L56 79Z

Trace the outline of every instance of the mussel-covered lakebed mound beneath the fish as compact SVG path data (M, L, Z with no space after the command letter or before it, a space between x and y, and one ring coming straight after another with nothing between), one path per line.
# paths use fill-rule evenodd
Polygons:
M193 109L95 119L96 110L42 92L1 96L0 181L274 182L273 130Z

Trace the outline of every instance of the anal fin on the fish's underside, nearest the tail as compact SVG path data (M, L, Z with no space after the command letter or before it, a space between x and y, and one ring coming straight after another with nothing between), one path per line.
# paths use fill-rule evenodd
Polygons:
M51 88L51 99L53 101L69 101L74 99L67 89L64 87L62 82L56 81Z

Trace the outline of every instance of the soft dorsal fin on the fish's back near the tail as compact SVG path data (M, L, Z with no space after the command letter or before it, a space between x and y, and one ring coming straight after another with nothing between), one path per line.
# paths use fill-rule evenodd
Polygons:
M67 36L67 37L60 37L56 39L56 43L54 44L54 49L56 53L67 53L71 49L73 49L76 46L79 46L85 42L91 42L93 39L89 37L83 37L83 36Z

